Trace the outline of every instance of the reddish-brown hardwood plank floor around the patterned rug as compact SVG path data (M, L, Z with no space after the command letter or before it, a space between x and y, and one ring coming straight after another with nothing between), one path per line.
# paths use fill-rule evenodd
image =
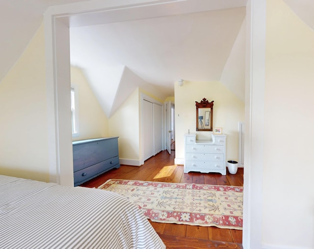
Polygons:
M226 176L218 173L190 172L184 174L183 165L175 165L174 158L174 151L172 151L171 155L167 151L162 151L156 156L147 159L144 165L140 167L121 165L119 169L112 169L97 178L81 184L81 186L98 187L109 179L243 186L243 168L239 168L235 175L227 172ZM167 249L242 249L240 245L242 244L242 230L151 221L150 223L166 244Z

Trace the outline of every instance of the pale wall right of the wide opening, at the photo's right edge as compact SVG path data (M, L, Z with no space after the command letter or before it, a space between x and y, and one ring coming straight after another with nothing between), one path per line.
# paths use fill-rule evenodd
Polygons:
M267 0L263 248L314 248L314 32Z

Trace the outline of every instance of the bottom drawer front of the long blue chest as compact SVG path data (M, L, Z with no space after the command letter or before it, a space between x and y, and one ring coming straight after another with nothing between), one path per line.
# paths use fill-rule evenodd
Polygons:
M74 185L88 181L112 168L119 168L119 157L109 158L90 167L74 172Z

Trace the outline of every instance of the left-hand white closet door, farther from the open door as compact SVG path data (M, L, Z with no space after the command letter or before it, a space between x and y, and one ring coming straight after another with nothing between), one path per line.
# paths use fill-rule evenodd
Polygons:
M153 103L143 101L144 160L154 155Z

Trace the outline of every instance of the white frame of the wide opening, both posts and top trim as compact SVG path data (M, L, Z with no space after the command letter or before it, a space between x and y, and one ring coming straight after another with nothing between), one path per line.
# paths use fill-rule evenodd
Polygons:
M64 111L67 107L70 108L70 17L80 14L86 16L86 13L89 16L94 13L97 15L100 12L121 8L134 9L144 5L162 4L162 2L167 4L165 0L86 1L53 6L45 13L50 181L73 185L71 117L70 112ZM174 1L173 4L175 3ZM245 100L247 136L245 138L246 170L243 207L244 249L261 248L262 241L262 152L258 150L262 145L258 142L263 134L260 111L264 106L265 6L266 0L248 0L246 12L248 63ZM84 15L82 15L82 20ZM251 165L254 165L254 168Z

